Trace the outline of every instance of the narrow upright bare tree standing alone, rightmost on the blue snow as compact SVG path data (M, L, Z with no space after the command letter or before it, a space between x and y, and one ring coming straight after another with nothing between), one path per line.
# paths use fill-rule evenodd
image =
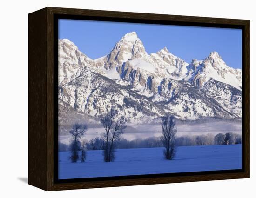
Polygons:
M164 145L164 155L166 159L173 159L176 154L175 138L177 133L176 121L174 116L162 117L162 144Z

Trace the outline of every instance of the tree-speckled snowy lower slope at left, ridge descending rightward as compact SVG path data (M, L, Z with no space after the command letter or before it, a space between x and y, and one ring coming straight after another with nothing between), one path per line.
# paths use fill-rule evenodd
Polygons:
M101 117L112 106L133 123L146 123L163 115L163 110L145 96L107 77L84 68L76 79L61 86L59 104L77 112ZM61 115L61 112L60 112Z

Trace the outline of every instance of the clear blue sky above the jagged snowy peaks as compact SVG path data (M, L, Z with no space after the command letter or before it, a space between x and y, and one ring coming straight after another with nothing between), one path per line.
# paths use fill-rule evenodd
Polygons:
M216 51L233 68L242 67L242 31L239 29L169 26L89 20L59 20L59 39L69 39L91 59L110 52L121 37L135 31L147 53L165 46L190 63Z

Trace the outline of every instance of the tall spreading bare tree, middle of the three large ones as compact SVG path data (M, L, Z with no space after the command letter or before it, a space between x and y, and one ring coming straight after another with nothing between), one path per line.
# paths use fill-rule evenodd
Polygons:
M117 117L117 111L111 108L100 120L103 125L105 132L102 134L102 139L104 140L103 154L105 162L112 162L115 159L115 146L116 143L121 139L126 128L126 119L124 116L115 121Z

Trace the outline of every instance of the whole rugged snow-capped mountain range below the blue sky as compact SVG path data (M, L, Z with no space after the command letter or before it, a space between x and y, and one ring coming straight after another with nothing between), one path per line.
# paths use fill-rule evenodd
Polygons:
M167 113L179 119L242 116L242 71L212 52L190 64L166 47L148 54L137 33L92 60L67 39L59 40L59 104L99 118L111 106L130 122Z

